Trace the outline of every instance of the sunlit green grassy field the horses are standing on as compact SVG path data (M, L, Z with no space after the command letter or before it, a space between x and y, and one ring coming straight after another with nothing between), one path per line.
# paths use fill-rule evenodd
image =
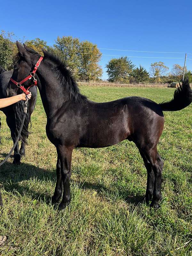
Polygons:
M91 100L142 96L170 100L171 88L82 86ZM192 255L192 106L164 112L158 151L164 159L161 208L140 203L147 174L134 143L73 152L72 202L58 212L46 203L56 181L56 150L45 133L46 116L38 96L32 134L20 166L1 167L4 207L0 235L8 236L1 256ZM2 118L2 160L12 147Z

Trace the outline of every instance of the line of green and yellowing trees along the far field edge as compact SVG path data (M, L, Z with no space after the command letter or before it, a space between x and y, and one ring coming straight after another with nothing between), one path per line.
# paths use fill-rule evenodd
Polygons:
M96 44L89 41L80 41L72 36L57 37L55 44L48 46L40 38L24 42L28 47L43 55L42 48L56 53L67 65L73 69L77 80L101 80L103 74L99 65L102 53ZM13 68L17 47L13 33L1 31L0 34L0 65L6 70ZM183 67L174 64L171 71L164 62L151 63L149 72L140 65L135 67L128 57L113 58L106 64L108 81L116 83L172 83L182 80ZM186 76L192 82L192 73L185 70Z

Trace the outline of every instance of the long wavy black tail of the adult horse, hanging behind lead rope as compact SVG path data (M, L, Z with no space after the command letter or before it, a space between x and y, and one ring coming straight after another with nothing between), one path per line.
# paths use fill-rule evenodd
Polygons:
M21 123L23 120L24 104L25 104L24 100L20 100L17 103L13 104L13 111L15 114L15 123L16 123L16 135L18 135L18 133L19 133ZM25 116L25 121L23 124L23 128L21 130L21 136L20 136L20 140L23 141L25 144L28 144L27 138L28 138L29 134L31 133L28 131L29 123L31 124L31 119L30 119L30 115L29 115L29 101L28 101L27 114Z

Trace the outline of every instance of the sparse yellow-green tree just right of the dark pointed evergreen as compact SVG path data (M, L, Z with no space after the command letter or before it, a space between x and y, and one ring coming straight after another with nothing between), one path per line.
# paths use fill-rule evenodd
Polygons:
M164 73L168 70L169 68L166 67L163 62L154 62L151 63L150 74L153 77L154 81L159 83L161 82L160 77L163 76Z

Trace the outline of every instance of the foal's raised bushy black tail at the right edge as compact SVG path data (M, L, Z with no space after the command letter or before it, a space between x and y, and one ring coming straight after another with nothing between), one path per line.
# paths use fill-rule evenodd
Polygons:
M173 99L162 102L159 106L163 111L178 111L186 108L192 102L192 90L189 85L188 78L184 79L182 84L175 90Z

